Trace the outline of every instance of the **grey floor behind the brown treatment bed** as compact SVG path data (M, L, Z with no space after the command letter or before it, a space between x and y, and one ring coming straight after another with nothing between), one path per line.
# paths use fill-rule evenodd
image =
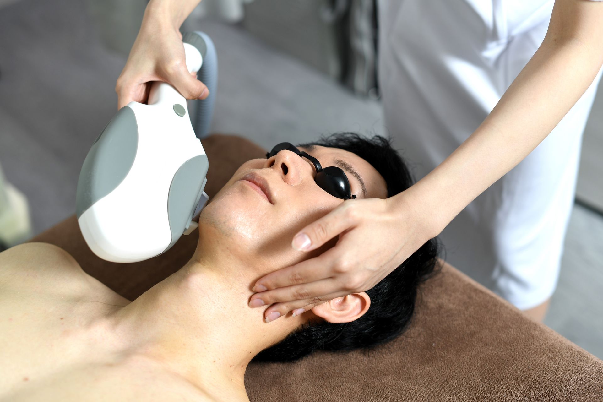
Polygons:
M219 49L213 131L269 147L318 134L385 133L377 102L347 90L236 27L207 22ZM93 140L116 111L125 58L101 46L77 0L21 0L0 8L0 161L30 200L34 231L75 210ZM575 207L546 324L603 357L603 218Z

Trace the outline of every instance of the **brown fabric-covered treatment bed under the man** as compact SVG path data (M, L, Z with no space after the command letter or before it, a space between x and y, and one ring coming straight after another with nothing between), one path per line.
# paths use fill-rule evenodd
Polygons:
M265 150L239 136L203 141L213 197L241 163ZM88 274L134 300L183 266L198 232L138 263L96 257L71 216L34 237L68 251ZM420 289L416 315L395 341L372 351L318 352L294 363L252 363L251 401L603 401L603 362L526 318L452 266Z

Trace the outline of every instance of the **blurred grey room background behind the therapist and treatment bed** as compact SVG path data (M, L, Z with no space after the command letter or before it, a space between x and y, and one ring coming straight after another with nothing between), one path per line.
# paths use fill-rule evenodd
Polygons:
M0 251L75 213L92 142L146 0L0 0ZM372 0L204 0L182 31L218 50L212 132L265 148L387 135ZM584 133L576 203L545 324L603 358L603 89ZM403 147L403 145L402 145Z

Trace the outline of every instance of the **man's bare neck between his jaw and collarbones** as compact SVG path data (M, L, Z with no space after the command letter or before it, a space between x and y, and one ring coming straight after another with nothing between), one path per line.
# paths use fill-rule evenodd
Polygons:
M199 249L197 249L198 251ZM225 267L223 264L229 264ZM257 278L249 266L198 258L116 313L128 347L210 394L247 398L248 363L301 324L301 316L266 324L266 307L247 306Z

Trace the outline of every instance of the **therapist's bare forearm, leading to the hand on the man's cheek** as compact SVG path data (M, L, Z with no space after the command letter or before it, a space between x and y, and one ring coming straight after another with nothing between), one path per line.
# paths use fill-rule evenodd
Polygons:
M439 234L548 136L596 77L602 53L576 39L545 39L478 129L406 190L404 204L411 199Z

